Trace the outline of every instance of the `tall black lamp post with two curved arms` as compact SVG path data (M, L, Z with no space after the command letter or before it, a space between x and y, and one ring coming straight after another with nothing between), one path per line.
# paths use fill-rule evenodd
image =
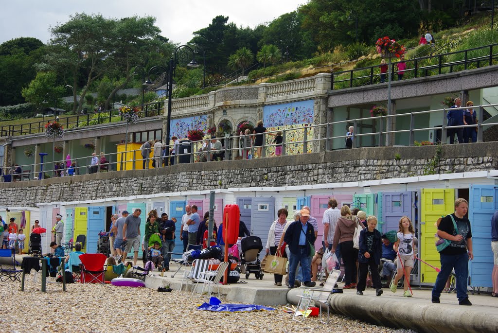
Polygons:
M180 52L181 50L184 50L184 52ZM178 46L174 53L173 56L169 59L169 67L168 70L166 70L162 66L154 66L151 69L149 69L148 74L147 74L147 81L143 83L144 86L152 86L153 83L150 81L150 73L153 72L156 69L163 69L165 72L168 74L168 113L167 113L167 127L166 127L166 145L169 146L169 141L171 140L171 95L173 91L173 75L175 72L176 64L178 63L178 60L182 61L187 61L189 59L189 55L192 54L192 60L187 64L187 67L192 67L192 68L197 68L199 67L199 64L195 61L195 52L194 49L192 49L188 45L180 45ZM169 149L166 149L166 157L169 156Z

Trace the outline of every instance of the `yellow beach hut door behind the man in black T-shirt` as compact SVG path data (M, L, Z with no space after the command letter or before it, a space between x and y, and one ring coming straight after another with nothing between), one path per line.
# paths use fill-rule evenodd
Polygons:
M419 255L434 267L441 267L439 252L434 244L437 231L435 223L441 216L454 212L454 189L422 189L422 216L420 223ZM425 264L420 265L420 278L423 283L436 282L437 272Z

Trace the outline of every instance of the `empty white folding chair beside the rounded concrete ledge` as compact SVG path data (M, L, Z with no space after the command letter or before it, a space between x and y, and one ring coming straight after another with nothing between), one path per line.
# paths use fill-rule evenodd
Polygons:
M294 315L292 316L292 319L298 322L301 322L306 318L305 314L308 308L310 307L310 304L312 301L318 303L318 307L320 308L320 322L324 324L329 323L329 316L330 316L330 309L327 306L327 321L324 322L322 320L322 307L320 304L329 304L329 296L332 293L334 286L337 283L337 280L339 279L339 275L341 274L341 271L338 269L334 269L332 272L330 272L329 277L325 281L325 285L323 288L306 288L306 287L301 287L303 288L303 294L299 296L299 302L297 303L296 306L296 311L294 312ZM300 316L302 314L302 317ZM301 318L299 318L301 317Z

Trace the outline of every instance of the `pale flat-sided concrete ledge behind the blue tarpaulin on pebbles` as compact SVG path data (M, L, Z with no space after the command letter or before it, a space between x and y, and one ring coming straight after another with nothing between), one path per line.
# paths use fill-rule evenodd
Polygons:
M169 285L173 290L180 290L181 281L161 276L147 276L145 278L146 288L157 289L158 287L165 287L166 285ZM191 293L194 290L194 287L195 284L189 282L185 292ZM201 288L201 286L199 287ZM199 288L198 291L200 291ZM268 306L287 304L287 288L254 288L251 284L233 283L226 286L220 286L220 294L225 296L227 300L236 303Z

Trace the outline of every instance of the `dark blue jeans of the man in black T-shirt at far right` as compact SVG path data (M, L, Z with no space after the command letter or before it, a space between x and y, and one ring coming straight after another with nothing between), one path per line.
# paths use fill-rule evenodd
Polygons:
M469 296L467 295L467 280L469 279L469 254L440 254L441 256L441 272L437 275L436 283L432 288L432 297L440 297L441 292L446 285L446 281L455 269L457 298L458 301L463 301Z

